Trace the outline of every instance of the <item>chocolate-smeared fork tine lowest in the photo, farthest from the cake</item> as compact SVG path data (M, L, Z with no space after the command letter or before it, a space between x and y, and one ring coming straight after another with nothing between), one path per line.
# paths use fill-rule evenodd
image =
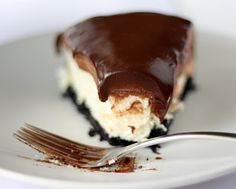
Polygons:
M30 144L32 147L34 147L36 150L42 153L47 153L48 155L53 157L53 159L60 159L60 160L63 159L62 162L64 164L66 164L66 162L70 162L70 163L73 163L73 165L82 167L83 165L86 165L88 162L92 162L91 159L89 160L86 158L80 159L78 157L70 156L70 154L41 141L41 139L38 140L37 137L28 135L27 133L24 133L22 131L18 131L18 133L15 133L15 136L21 142Z

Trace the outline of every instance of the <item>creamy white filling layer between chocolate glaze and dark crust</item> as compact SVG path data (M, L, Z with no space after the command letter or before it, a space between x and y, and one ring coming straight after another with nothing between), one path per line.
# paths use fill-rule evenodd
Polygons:
M160 119L151 112L148 98L129 95L117 100L109 96L106 102L101 102L90 73L79 68L70 52L65 52L65 56L66 65L59 70L61 89L65 91L71 86L77 94L77 103L85 103L110 137L142 141L154 127L166 131ZM184 86L183 79L181 84ZM167 114L166 118L171 119L172 115Z

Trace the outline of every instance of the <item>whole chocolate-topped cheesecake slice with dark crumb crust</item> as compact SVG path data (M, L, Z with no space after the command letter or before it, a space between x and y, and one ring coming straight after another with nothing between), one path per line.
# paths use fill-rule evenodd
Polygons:
M90 135L127 145L166 134L193 88L193 26L135 12L94 17L57 37L62 92L92 125Z

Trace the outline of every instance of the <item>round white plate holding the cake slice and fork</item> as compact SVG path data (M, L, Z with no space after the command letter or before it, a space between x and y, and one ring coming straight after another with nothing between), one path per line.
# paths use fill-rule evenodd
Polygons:
M54 35L46 35L0 47L1 175L55 188L168 188L236 170L236 144L208 140L165 144L160 150L163 160L155 160L144 149L138 153L144 168L128 174L87 172L18 157L40 157L12 136L24 122L77 141L106 145L87 136L86 120L60 96L55 70L63 60L53 52L53 40ZM224 36L200 33L197 46L198 89L188 96L186 109L177 115L171 132L236 132L236 44Z

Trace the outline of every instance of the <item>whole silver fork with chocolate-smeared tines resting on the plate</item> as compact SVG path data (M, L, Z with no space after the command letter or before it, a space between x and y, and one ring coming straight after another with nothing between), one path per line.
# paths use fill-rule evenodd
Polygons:
M137 142L126 147L100 148L74 142L47 132L30 124L21 127L14 136L42 153L65 163L82 168L94 168L112 165L118 159L141 148L184 139L216 139L236 142L236 133L227 132L182 132L164 135Z

